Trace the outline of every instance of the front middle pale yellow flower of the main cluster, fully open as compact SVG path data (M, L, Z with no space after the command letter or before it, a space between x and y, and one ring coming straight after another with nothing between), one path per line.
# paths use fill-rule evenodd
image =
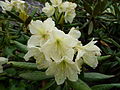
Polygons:
M54 30L50 39L41 47L46 59L51 59L56 62L67 56L73 59L74 49L77 40L70 35L65 34L63 31Z

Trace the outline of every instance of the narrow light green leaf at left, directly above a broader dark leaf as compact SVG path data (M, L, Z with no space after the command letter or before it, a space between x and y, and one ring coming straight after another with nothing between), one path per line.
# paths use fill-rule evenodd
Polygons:
M35 63L10 61L7 64L12 64L13 67L18 67L18 68L37 69L37 66Z

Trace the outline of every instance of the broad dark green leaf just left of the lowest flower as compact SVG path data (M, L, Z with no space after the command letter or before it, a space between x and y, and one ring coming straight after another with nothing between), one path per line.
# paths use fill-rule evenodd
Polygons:
M41 72L41 71L22 73L19 76L27 80L35 80L35 81L52 78L52 76L47 76L45 72Z

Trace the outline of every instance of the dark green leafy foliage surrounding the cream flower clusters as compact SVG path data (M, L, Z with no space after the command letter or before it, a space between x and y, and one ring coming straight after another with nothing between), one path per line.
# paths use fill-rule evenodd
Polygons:
M86 44L94 37L102 56L98 57L96 69L85 65L79 75L81 80L66 81L61 86L52 76L46 76L45 70L37 70L33 58L30 62L23 59L31 36L28 25L32 19L47 18L41 13L46 1L26 1L29 17L25 20L14 11L0 11L0 56L9 58L0 74L0 90L120 90L120 0L68 0L77 3L77 16L72 24L63 25L64 32L79 27L79 40Z

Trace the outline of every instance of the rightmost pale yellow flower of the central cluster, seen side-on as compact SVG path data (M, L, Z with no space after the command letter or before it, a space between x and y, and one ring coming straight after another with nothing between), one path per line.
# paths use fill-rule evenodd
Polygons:
M97 56L100 56L100 49L94 45L96 43L96 41L91 40L91 42L89 42L87 45L85 46L78 46L78 54L76 57L76 60L82 60L84 63L86 63L87 65L89 65L92 68L97 67L98 65L98 60L97 60Z

